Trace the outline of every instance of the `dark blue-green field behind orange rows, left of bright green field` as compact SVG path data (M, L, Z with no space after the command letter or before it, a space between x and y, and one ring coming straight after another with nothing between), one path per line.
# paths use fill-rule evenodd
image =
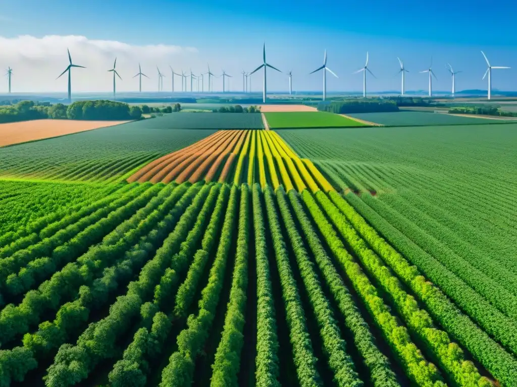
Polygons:
M153 129L263 129L260 113L177 112L141 121Z

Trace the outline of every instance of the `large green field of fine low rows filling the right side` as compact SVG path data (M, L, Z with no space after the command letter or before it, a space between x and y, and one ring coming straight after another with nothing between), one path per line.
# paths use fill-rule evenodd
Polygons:
M335 203L343 213L351 204L414 265L401 266L397 255L369 239L367 223L354 223L450 337L498 378L495 359L505 363L499 371L516 372L515 128L279 132L344 192L346 202ZM449 303L433 300L419 276Z

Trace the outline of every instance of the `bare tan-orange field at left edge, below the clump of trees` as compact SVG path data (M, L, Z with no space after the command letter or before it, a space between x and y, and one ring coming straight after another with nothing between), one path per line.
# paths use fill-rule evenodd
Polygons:
M34 120L0 124L0 147L65 134L90 131L127 121Z

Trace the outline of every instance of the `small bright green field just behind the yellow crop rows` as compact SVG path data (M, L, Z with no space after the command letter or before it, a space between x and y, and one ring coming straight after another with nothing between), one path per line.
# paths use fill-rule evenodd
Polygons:
M264 115L271 129L364 126L358 121L325 111L270 112Z

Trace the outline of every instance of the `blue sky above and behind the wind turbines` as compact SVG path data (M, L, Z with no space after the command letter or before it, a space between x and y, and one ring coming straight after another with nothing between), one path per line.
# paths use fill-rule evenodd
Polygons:
M340 76L339 79L328 79L328 90L362 89L362 75L351 73L364 65L366 51L370 53L369 68L377 76L377 79L368 80L368 89L372 92L400 88L400 77L396 76L399 67L397 56L403 59L410 71L406 78L408 90L427 88L427 74L419 74L418 71L429 67L431 57L433 70L438 77L433 86L435 89L450 89L446 62L450 62L454 70L463 71L457 77L457 90L486 88L486 82L481 80L486 69L480 53L483 50L493 66L512 67L510 70L494 71L493 87L515 89L515 3L506 0L497 2L497 6L479 0L440 0L429 3L429 6L423 2L404 3L407 4L376 0L327 3L278 0L253 3L234 0L90 0L70 3L51 0L42 6L41 2L34 0L18 0L4 4L0 9L0 36L7 38L7 43L4 39L5 44L20 35L35 38L74 35L97 41L97 47L101 47L99 55L102 55L99 56L99 63L92 62L95 56L93 52L83 59L80 44L72 46L75 51L70 49L74 58L89 61L88 69L81 70L81 75L79 70L77 76L72 75L74 81L77 79L74 83L77 91L109 90L105 70L99 70L97 66L111 66L104 65L104 62L108 61L112 53L110 49L102 49L103 45L99 41L117 41L130 46L163 44L194 47L196 52L179 49L175 52L170 49L152 59L159 62L156 64L162 68L168 68L170 64L187 70L191 66L194 73L206 71L206 62L210 62L212 71L221 72L221 68L225 68L230 74L239 77L238 80L232 79L232 89L241 88L242 78L238 73L242 69L250 71L260 65L264 41L271 65L283 71L293 69L295 90L322 88L321 73L308 73L321 66L325 49L328 51L329 68ZM38 44L37 41L33 43ZM0 57L0 67L15 68L16 64L20 69L18 74L20 71L28 73L28 66L32 62L23 61L31 53L24 54L20 50L25 48L33 51L37 47L24 44L12 45L14 48L11 49L18 50L12 53L12 57L9 56L9 50L4 50L8 54L7 58ZM22 78L19 75L19 90L62 89L66 80L55 82L55 77L67 65L64 50L63 57L56 57L59 63L55 65L55 71L52 62L52 65L41 65L45 67L45 72L41 70L37 73L37 80L34 79L36 75L33 75L30 83L28 77ZM144 55L141 51L139 53ZM148 71L151 77L146 80L149 85L145 87L152 89L157 82L154 79L156 71L149 68L154 62L151 63L149 54L142 59L134 55L128 54L117 62L120 72L125 75L119 88L134 89L135 84L130 78L136 73L133 69L138 67L135 61L142 61L148 69L144 72ZM9 60L14 64L4 63ZM43 58L40 60L43 61ZM99 71L98 76L96 71ZM164 82L169 83L170 77L165 78ZM215 89L221 88L219 83L220 80L216 80ZM262 75L257 74L253 79L253 89L259 90L261 84ZM287 85L285 75L268 73L269 90L285 90ZM0 84L0 92L2 86Z

